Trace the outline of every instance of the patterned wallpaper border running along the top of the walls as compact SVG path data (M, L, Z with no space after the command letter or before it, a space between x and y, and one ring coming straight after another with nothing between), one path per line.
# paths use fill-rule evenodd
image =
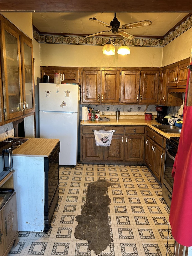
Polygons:
M169 44L179 35L192 27L192 15L185 20L181 25L173 29L165 38L116 38L116 43L119 45L127 44L128 46L143 46L143 47L164 47ZM50 35L38 33L33 28L33 38L38 43L45 44L76 44L76 45L104 45L112 36L109 37L85 37L78 35Z

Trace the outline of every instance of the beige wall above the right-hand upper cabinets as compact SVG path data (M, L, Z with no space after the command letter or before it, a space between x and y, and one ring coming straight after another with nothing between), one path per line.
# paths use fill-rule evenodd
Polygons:
M162 67L190 57L192 46L192 28L163 47Z

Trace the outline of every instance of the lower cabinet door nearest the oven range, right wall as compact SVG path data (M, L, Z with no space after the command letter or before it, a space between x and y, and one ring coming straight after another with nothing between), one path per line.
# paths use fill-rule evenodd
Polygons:
M154 147L154 168L152 169L155 176L158 178L159 181L161 181L161 170L162 170L162 154L163 154L163 148L161 148L158 144L155 144Z

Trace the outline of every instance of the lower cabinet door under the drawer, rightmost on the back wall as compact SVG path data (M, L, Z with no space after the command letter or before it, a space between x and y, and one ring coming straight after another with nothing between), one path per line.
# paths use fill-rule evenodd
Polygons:
M144 135L125 135L125 161L143 161Z

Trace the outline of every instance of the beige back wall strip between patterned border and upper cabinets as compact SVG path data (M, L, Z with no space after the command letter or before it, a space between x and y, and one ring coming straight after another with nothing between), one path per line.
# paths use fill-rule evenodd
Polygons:
M161 47L130 47L130 55L106 56L103 46L40 44L42 66L161 67ZM117 52L117 50L116 50Z

